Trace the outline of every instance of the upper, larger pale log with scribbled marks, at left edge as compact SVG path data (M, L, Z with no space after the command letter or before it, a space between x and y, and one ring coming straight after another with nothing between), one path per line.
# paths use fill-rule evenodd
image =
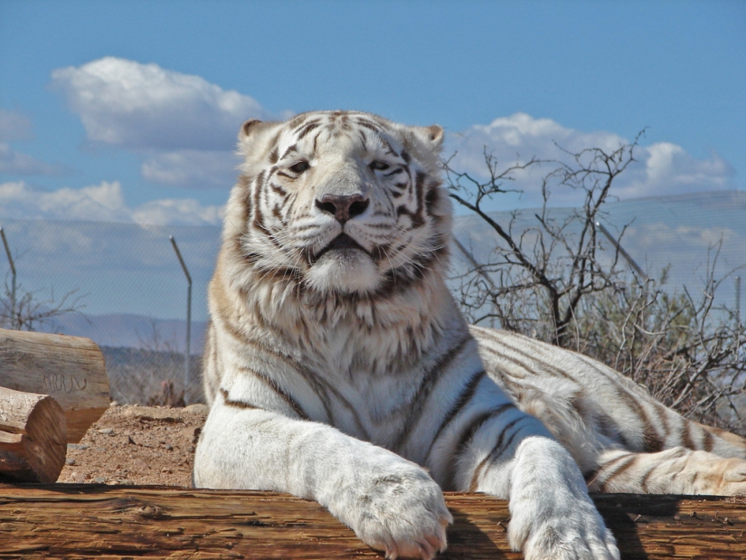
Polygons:
M109 408L104 356L88 338L0 328L0 386L54 397L70 443Z

